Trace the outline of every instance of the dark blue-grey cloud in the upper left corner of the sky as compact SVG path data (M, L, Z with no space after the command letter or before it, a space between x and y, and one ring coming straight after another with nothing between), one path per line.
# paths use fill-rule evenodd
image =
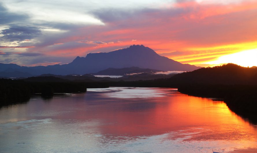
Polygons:
M10 13L0 2L0 25L9 24L12 22L22 21L24 22L29 17L27 15Z

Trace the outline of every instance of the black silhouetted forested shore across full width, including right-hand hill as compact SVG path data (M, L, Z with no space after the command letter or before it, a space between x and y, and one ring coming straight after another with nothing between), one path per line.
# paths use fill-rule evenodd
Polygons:
M230 110L257 123L257 68L235 64L200 68L173 77L139 81L76 81L53 76L31 77L23 80L0 79L0 105L28 100L30 95L42 93L86 92L86 88L104 87L170 87L183 94L222 98Z

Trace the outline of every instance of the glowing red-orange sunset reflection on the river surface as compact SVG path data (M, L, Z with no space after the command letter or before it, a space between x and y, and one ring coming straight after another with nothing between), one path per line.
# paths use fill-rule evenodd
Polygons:
M104 123L101 125L103 134L133 137L183 130L183 133L197 133L187 140L256 138L254 126L231 112L223 101L159 90L165 90L167 96L133 100L112 97L113 102L97 106L99 111L95 117ZM181 135L178 133L172 139L177 137Z

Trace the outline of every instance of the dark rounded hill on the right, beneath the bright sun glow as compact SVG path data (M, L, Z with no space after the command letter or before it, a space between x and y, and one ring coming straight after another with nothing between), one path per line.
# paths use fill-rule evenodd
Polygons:
M226 64L176 74L169 81L171 84L257 85L256 78L256 68Z

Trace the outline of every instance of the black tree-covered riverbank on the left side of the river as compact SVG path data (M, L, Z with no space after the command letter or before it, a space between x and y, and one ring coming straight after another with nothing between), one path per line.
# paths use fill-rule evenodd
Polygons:
M0 107L29 100L31 95L41 93L52 96L54 93L86 92L87 88L105 88L107 83L99 82L26 82L22 80L0 79Z

